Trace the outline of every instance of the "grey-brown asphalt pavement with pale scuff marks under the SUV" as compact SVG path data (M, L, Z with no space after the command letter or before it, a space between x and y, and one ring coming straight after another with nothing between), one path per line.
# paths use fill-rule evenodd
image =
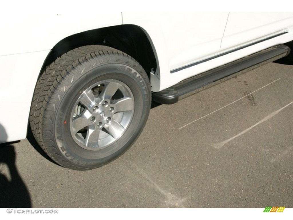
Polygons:
M292 72L279 60L154 106L95 170L60 167L32 138L1 144L0 207L293 208Z

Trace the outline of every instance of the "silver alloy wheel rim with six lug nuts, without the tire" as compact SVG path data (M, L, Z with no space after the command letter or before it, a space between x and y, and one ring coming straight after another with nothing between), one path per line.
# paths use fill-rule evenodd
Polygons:
M85 149L109 146L131 123L134 97L130 88L116 79L96 82L82 90L71 111L71 135Z

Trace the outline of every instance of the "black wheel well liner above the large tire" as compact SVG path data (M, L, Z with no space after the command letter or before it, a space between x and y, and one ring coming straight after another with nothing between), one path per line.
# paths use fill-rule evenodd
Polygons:
M130 55L144 68L149 78L151 69L157 68L155 52L144 30L136 25L119 25L76 33L60 40L48 54L40 74L62 54L93 44L109 46Z

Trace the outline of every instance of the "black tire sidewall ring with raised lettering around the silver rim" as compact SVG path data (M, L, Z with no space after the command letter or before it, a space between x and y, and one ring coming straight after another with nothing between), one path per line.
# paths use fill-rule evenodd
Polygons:
M89 65L89 63L83 65ZM131 65L106 63L92 67L80 74L83 70L72 71L74 77L78 77L71 80L72 82L67 87L63 87L64 93L58 100L58 107L54 115L53 136L57 151L65 161L81 167L99 167L122 155L139 136L149 114L150 89L142 73ZM64 81L68 83L68 79L71 77L72 75L68 74ZM119 80L130 88L134 97L134 114L125 133L117 141L103 149L87 150L77 145L71 136L71 111L83 89L107 79Z

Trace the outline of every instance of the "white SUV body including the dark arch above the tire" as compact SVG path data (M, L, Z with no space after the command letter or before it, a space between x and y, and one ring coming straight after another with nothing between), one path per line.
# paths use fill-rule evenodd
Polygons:
M72 50L74 44L85 46L92 44L92 38L99 38L98 44L127 54L127 45L133 41L133 54L138 55L143 53L139 50L150 48L148 54L153 54L153 58L146 57L151 60L146 71L151 91L159 92L184 79L292 41L293 13L112 13L78 17L45 14L37 19L29 15L7 19L1 29L3 143L26 138L38 79L46 65ZM87 33L91 36L83 43L80 36ZM138 38L138 33L144 36ZM131 40L124 39L128 36ZM58 57L52 57L52 51Z

